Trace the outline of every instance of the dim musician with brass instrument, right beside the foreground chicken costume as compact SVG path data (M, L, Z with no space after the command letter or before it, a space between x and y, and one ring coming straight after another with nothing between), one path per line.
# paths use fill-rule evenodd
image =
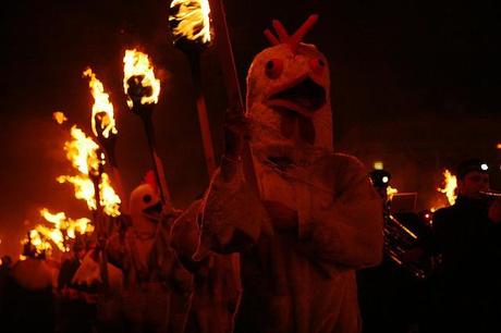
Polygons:
M428 281L423 274L428 274L428 227L423 219L412 211L391 212L391 200L388 198L391 173L386 170L372 170L369 178L382 199L386 233L396 234L386 234L384 257L380 266L357 272L363 333L407 333L417 329L425 332L429 293ZM392 221L401 223L417 236L413 244L399 246L398 252L394 251L394 247L398 246L394 242L399 239L400 232L389 227ZM416 268L421 270L418 271Z

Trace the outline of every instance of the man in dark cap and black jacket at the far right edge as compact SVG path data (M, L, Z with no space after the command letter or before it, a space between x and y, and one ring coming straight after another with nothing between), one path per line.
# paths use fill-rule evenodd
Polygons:
M500 205L481 194L489 188L487 163L465 160L456 175L456 202L433 217L433 245L442 257L437 331L500 332Z

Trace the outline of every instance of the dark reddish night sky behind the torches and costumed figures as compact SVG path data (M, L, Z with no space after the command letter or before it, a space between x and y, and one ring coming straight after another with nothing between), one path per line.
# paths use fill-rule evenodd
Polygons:
M320 21L306 40L331 64L334 135L339 150L369 164L383 159L402 190L436 200L440 168L485 156L494 144L501 107L500 12L496 1L278 0L225 1L242 83L266 47L262 29L280 18L291 30L309 13ZM13 1L1 17L0 254L17 250L25 220L48 207L86 214L72 189L68 134L51 120L63 110L89 132L91 99L81 76L90 65L118 113L118 157L132 189L149 159L139 120L127 113L121 88L125 48L140 46L162 77L156 110L158 148L174 201L183 207L207 185L192 82L184 55L167 32L168 1ZM217 151L222 144L224 91L215 50L204 57L205 87ZM421 196L423 194L423 196Z

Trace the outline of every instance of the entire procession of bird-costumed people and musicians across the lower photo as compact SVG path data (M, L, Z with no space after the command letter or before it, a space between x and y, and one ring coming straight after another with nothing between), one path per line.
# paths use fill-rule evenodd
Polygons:
M389 178L333 150L328 62L302 42L315 20L267 30L245 118L230 111L200 199L178 210L147 177L110 234L81 235L57 262L29 242L24 260L2 259L1 331L499 332L501 206L482 194L487 171L462 163L457 202L391 252L389 221L413 219L391 213ZM423 258L425 279L412 274Z

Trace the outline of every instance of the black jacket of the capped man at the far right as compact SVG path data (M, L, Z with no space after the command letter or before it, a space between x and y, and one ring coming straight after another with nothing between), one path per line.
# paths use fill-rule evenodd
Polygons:
M490 332L478 324L500 321L501 225L489 220L488 202L460 196L438 210L433 249L442 258L436 291L442 319L461 332Z

